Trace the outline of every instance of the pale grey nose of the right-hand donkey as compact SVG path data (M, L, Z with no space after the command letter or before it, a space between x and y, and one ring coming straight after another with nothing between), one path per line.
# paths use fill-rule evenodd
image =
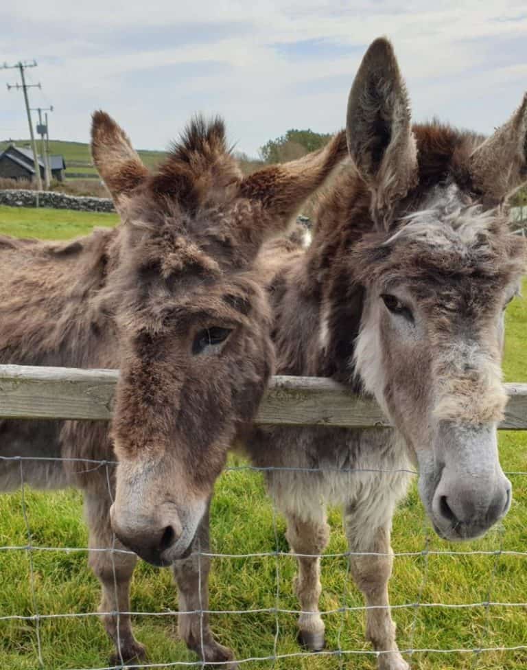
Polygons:
M434 516L441 527L449 527L463 538L476 537L500 520L511 506L512 488L508 480L478 487L438 485L433 501Z

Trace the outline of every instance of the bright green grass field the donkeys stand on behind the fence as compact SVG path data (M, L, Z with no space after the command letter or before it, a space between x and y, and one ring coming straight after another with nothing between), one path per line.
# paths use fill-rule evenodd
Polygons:
M46 220L43 221L45 212ZM49 215L49 216L48 216ZM75 216L73 216L75 215ZM110 215L97 224L112 224ZM76 235L93 224L93 215L63 211L16 212L0 207L0 231L13 234L53 237ZM71 228L68 226L71 225ZM527 288L527 286L526 286ZM527 351L527 305L515 299L507 310L507 340L504 371L506 380L527 381L524 352ZM527 470L527 435L500 434L502 465L508 472ZM231 465L240 461L231 460ZM415 487L395 516L395 552L431 550L494 551L527 550L527 476L511 475L514 501L501 527L478 542L461 546L438 540L425 520ZM82 522L82 501L78 492L53 494L25 492L27 517L35 545L56 547L86 546ZM0 546L25 545L27 534L22 515L22 497L17 492L0 497ZM328 553L346 551L340 513L331 510L333 528ZM220 553L261 553L286 550L285 525L277 519L275 536L272 505L264 494L261 477L233 470L224 473L216 486L212 510L213 549ZM28 555L21 551L0 551L0 668L36 670L36 623L2 621L2 616L29 616L94 612L99 588L86 568L84 551L34 551L34 598L29 579ZM419 607L412 603L526 603L527 557L518 555L425 555L395 559L390 594L397 606L394 618L401 649L478 649L514 647L527 644L525 605L485 608ZM347 577L344 558L327 557L323 565L321 608L362 605L358 591ZM278 569L277 569L278 568ZM274 556L246 559L215 559L211 577L211 609L250 610L279 608L294 610L298 603L292 592L294 560ZM277 597L277 574L279 575ZM141 562L132 585L132 609L163 612L177 607L176 592L169 570L156 570ZM329 649L369 651L364 643L362 612L328 614ZM270 656L279 624L277 651L298 651L295 616L281 614L217 614L212 624L219 640L235 649L238 658ZM150 662L195 661L177 638L176 616L134 617L139 640L148 646ZM106 667L110 644L95 616L40 621L39 634L46 670ZM416 653L414 669L420 670L524 670L527 651L489 651L481 654ZM271 662L248 662L243 667L274 667L279 670L373 670L373 655L349 657L310 656Z

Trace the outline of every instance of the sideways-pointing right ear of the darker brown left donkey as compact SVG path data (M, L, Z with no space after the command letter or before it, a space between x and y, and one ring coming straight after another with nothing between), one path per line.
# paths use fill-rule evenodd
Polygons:
M261 231L266 236L276 235L284 231L302 203L346 157L346 135L341 130L323 149L253 172L239 183L238 194L259 203L264 215Z

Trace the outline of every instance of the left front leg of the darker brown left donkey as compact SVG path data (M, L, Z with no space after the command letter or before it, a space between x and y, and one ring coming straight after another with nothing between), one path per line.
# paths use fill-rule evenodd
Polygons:
M106 486L106 483L105 483ZM90 530L91 549L124 549L110 528L110 500L104 492L85 492L84 511ZM102 599L99 612L106 632L115 644L115 654L110 659L112 665L122 662L137 662L146 656L145 648L134 638L130 625L130 580L134 572L137 556L131 553L111 553L91 551L89 565L102 585ZM112 614L108 614L112 612Z

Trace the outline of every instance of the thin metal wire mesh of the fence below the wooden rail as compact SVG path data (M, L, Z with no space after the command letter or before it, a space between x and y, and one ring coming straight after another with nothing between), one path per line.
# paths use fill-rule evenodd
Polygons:
M481 655L484 652L490 651L523 651L527 649L527 645L517 645L515 647L484 647L484 640L486 636L489 636L491 633L491 610L493 608L516 608L524 609L527 608L526 602L502 602L502 601L493 601L491 600L491 591L493 590L493 585L495 583L498 565L502 557L509 556L515 557L519 560L525 559L527 557L527 551L509 551L503 548L503 533L500 536L500 546L495 550L432 550L429 547L430 538L428 537L428 528L425 527L425 544L421 551L400 551L393 553L392 555L397 557L420 557L423 560L423 569L421 571L422 580L417 592L417 599L414 602L399 603L397 605L347 605L347 583L349 579L350 567L349 561L353 556L388 556L388 553L382 552L372 552L372 551L342 551L334 553L321 553L321 554L312 554L312 553L297 553L289 551L280 550L280 540L279 532L277 527L277 504L275 497L272 502L272 529L274 533L274 551L261 551L253 553L218 553L214 551L202 551L202 547L198 544L196 548L196 555L198 559L198 588L199 588L199 608L197 610L189 611L176 611L176 610L163 610L158 612L150 611L139 611L139 610L130 610L130 611L119 611L117 603L119 603L119 590L118 590L118 580L117 580L117 570L115 566L115 557L119 554L132 555L131 551L128 551L123 548L118 548L116 546L116 538L113 535L113 540L111 546L108 547L86 547L86 546L39 546L34 544L32 540L32 533L30 530L30 521L27 513L27 504L25 498L25 481L23 475L23 466L27 461L69 461L82 464L83 469L79 470L79 473L92 472L98 470L99 468L104 467L106 471L106 482L108 485L108 495L110 500L113 501L113 486L112 486L112 469L117 463L115 461L101 460L97 461L95 459L77 459L77 458L49 458L49 457L0 457L0 461L13 461L19 463L20 467L20 481L21 481L21 506L22 514L25 522L26 534L27 534L27 544L25 545L5 545L0 546L0 551L19 551L27 555L29 570L30 570L30 588L31 588L31 597L32 597L32 609L33 614L23 615L23 614L10 614L6 616L0 616L1 621L22 621L30 622L35 625L35 634L36 634L36 653L38 656L38 663L41 667L45 667L44 655L43 655L43 644L40 636L40 625L43 621L56 620L56 619L84 619L93 616L111 616L115 617L116 621L116 638L117 638L117 654L119 656L119 661L121 665L124 665L125 658L122 656L122 640L121 640L121 620L122 617L133 616L138 617L178 617L183 615L194 615L199 616L200 620L200 647L202 652L202 659L196 661L170 661L163 663L148 663L148 662L137 662L137 665L127 665L126 667L130 668L170 668L170 667L203 667L205 662L207 665L219 665L225 666L229 665L229 661L222 662L213 662L210 660L205 660L206 647L205 644L205 631L204 631L204 617L209 615L214 616L232 616L232 615L254 615L254 614L269 614L274 615L275 621L275 631L273 636L273 645L272 645L272 654L265 656L251 656L249 658L237 658L237 663L239 665L245 664L247 662L259 662L261 664L265 663L274 663L278 660L297 658L303 659L308 658L309 656L329 656L335 657L339 660L340 665L344 658L349 656L372 656L378 657L382 654L391 653L391 650L387 651L373 651L371 649L346 649L342 646L342 632L344 630L345 616L350 612L366 612L367 610L375 609L390 609L390 610L414 610L414 616L412 623L410 625L410 639L407 649L401 649L401 654L412 658L416 654L473 654L472 668L476 670L478 664L478 659L481 658ZM278 468L278 467L255 467L253 465L233 465L226 467L227 472L236 472L236 471L247 471L247 472L270 472L272 478L274 478L274 472L277 470L288 470L288 471L297 471L297 472L346 472L346 473L361 473L361 472L409 472L411 474L417 474L412 470L374 470L374 469L349 469L349 470L340 470L339 468L304 468L304 467L288 467L288 468ZM527 472L508 472L509 476L511 475L527 475ZM275 491L274 485L272 490ZM34 572L34 555L38 552L82 552L82 553L109 553L113 569L113 582L114 582L114 599L117 606L116 611L109 612L59 612L56 614L47 614L39 612L38 602L37 602L37 593L36 593L36 581L35 581L35 572ZM469 603L446 603L446 602L423 602L423 594L425 592L425 587L430 580L430 570L428 566L428 560L430 556L449 556L449 557L462 557L462 556L489 556L493 557L493 569L491 572L489 580L489 588L487 590L487 598L484 601L474 601ZM274 559L275 570L274 577L276 580L276 588L274 593L274 607L270 608L249 608L245 610L213 610L207 609L203 606L202 601L202 590L206 588L206 584L202 584L202 558L211 559L211 558L222 558L222 559L253 559L253 558L265 558ZM298 651L288 654L279 653L279 643L280 643L280 616L294 616L295 618L303 614L312 614L312 612L304 610L296 610L290 608L282 608L280 606L280 580L281 580L281 569L280 561L281 559L296 559L298 557L309 557L309 558L320 558L320 559L346 559L347 561L347 570L346 570L346 579L344 581L344 586L342 590L342 597L340 600L340 606L338 608L322 610L319 612L320 616L331 616L331 615L340 615L340 625L337 632L337 649L324 649L323 651L318 651L316 654L309 651ZM414 637L417 630L417 620L419 611L424 609L443 609L443 610L476 610L483 608L485 611L486 625L484 630L482 630L482 638L480 645L478 647L465 648L460 647L457 649L434 649L434 648L416 648L414 647ZM71 669L71 670L114 670L116 667L120 666L105 666L101 668L89 668L89 669Z

